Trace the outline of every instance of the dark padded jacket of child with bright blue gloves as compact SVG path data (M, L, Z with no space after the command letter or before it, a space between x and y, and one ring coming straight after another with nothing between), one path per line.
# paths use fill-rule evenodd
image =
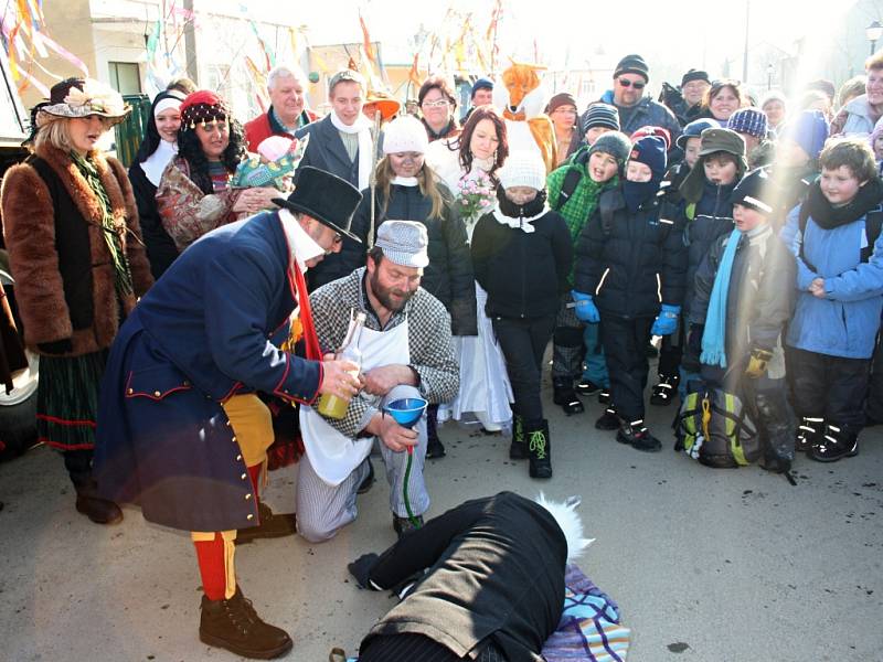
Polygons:
M687 252L677 221L661 217L661 196L630 213L621 185L602 193L576 246L574 285L598 310L623 318L656 317L681 306ZM607 221L605 221L607 215Z

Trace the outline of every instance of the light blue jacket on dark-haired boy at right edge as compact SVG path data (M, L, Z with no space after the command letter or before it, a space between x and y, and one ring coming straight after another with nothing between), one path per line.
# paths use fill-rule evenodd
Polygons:
M798 257L797 307L788 328L789 345L845 359L870 359L873 354L883 311L883 234L866 261L862 261L861 253L868 244L866 214L881 212L882 200L883 183L873 179L852 202L834 209L816 182L807 201L788 215L781 238ZM801 213L807 215L802 234ZM816 278L825 279L823 299L808 291Z

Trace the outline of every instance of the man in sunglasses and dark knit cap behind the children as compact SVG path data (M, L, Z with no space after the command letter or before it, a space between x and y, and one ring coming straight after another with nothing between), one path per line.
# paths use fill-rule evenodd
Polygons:
M646 126L662 127L671 134L672 142L681 134L681 125L662 104L645 96L650 72L640 55L626 55L614 71L614 88L604 93L600 100L613 104L619 111L621 131L630 136Z

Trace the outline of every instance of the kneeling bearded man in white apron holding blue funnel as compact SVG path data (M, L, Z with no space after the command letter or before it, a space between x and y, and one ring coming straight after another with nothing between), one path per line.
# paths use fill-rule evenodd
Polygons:
M333 537L355 520L355 494L368 477L368 456L376 439L390 483L393 528L402 535L414 526L404 501L407 448L413 466L408 502L417 523L429 509L423 480L426 417L407 429L383 414L387 403L422 397L453 399L459 369L450 339L450 317L438 299L419 287L429 264L426 227L412 221L386 221L368 254L365 267L310 295L316 333L322 348L340 348L358 312L366 316L359 349L362 391L340 419L300 408L306 455L298 469L297 526L310 542Z

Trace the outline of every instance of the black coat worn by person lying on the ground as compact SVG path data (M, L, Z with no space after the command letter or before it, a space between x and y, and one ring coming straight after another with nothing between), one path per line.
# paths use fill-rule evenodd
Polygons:
M458 656L492 639L509 662L541 662L564 607L567 542L533 501L500 492L467 501L406 534L369 579L391 588L428 568L362 640L423 634Z

